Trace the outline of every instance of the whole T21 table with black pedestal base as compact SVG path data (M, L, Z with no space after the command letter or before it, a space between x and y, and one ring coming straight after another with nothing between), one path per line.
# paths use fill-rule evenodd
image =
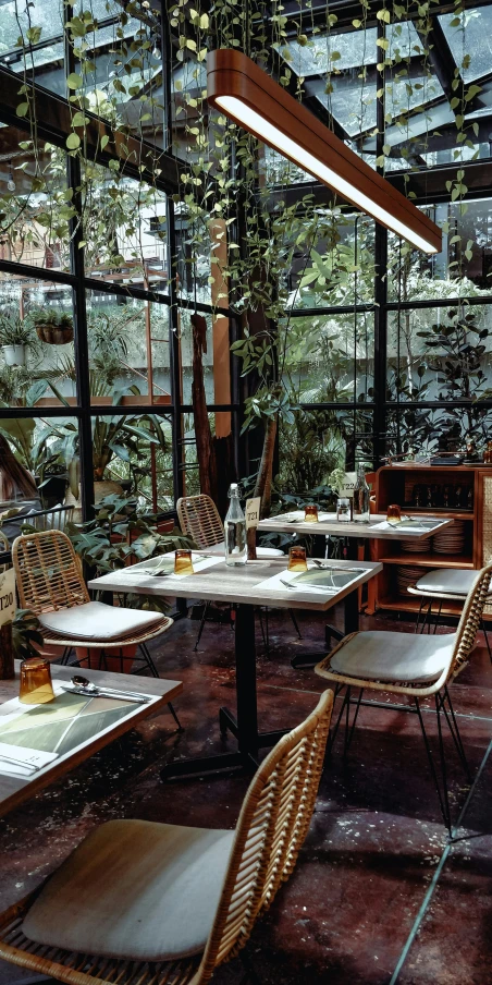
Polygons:
M142 569L148 569L148 562L143 562L104 574L89 582L89 588L119 594L132 592L143 595L232 603L236 611L234 646L237 717L227 708L221 708L219 721L222 733L229 729L236 737L237 752L170 764L164 767L163 779L196 774L205 775L209 771L237 769L238 767L256 769L258 750L274 745L285 733L285 729L258 732L255 606L324 612L344 599L347 603L345 630L353 632L358 627L357 589L382 570L379 562L357 562L356 567L361 569L361 573L348 586L330 595L328 593L318 594L309 589L278 587L275 591L266 591L258 587L266 579L286 571L287 558L285 557L248 561L247 564L234 568L227 567L224 561L217 561L206 571L196 572L182 579L153 577L142 573ZM346 561L334 561L333 567L343 570L355 566L348 564Z

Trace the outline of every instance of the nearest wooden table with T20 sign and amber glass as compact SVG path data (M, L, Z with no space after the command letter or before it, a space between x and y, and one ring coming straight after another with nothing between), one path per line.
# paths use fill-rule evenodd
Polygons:
M13 681L0 681L0 730L1 730L1 710L5 702L19 696L19 667L16 661L16 677ZM59 664L51 666L51 677L54 680L70 681L76 668L61 667ZM119 721L110 723L107 728L98 731L97 734L87 739L85 742L76 745L73 750L65 754L61 754L54 762L25 779L17 779L12 776L3 776L0 774L0 816L17 807L23 801L28 800L47 787L53 780L59 779L63 774L69 773L84 759L88 759L93 753L108 745L113 739L123 735L130 731L140 719L146 718L164 708L168 702L173 701L177 694L183 691L181 681L165 681L157 678L137 677L135 674L127 676L123 673L110 673L100 670L84 670L84 677L94 681L99 686L116 688L119 691L135 691L143 694L151 695L151 701L146 704L131 705L130 703L120 702L128 709ZM102 698L94 698L95 702L101 702ZM27 707L27 706L24 706ZM34 707L34 706L33 706ZM39 707L39 705L37 706ZM53 708L54 703L50 702L45 708ZM5 741L5 740L3 740Z

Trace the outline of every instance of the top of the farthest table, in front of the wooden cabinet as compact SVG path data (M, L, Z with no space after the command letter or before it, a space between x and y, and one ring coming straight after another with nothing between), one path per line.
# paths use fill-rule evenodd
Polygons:
M285 516L292 516L294 512L298 511L285 513ZM429 514L419 516L418 520L423 523L426 520L432 521L432 530L420 527L416 522L417 518L413 518L408 523L408 527L405 526L404 530L389 526L381 528L379 524L384 523L386 520L384 514L371 513L369 523L354 523L353 521L341 523L336 520L335 513L320 513L320 515L322 519L318 523L306 523L302 519L302 512L299 512L299 519L294 522L283 521L281 516L269 516L267 520L260 520L258 533L261 533L261 531L276 531L279 534L310 534L311 536L316 534L321 534L322 536L331 534L335 537L360 537L361 539L369 538L373 540L421 540L423 537L432 536L432 534L453 523L452 520L441 520L440 516Z

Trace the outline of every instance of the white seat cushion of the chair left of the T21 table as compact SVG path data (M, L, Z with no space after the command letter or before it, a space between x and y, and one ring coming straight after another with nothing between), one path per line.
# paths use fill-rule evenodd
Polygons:
M113 608L100 601L87 601L57 612L44 612L38 618L41 625L59 633L62 639L91 641L120 640L132 633L150 630L162 620L160 612Z

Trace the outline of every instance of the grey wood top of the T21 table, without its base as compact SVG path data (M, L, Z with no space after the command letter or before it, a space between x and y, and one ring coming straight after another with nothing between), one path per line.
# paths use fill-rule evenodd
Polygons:
M312 560L309 560L312 564ZM377 561L334 560L333 567L341 570L344 568L357 569L360 572L349 585L337 591L335 595L318 589L315 592L310 588L287 588L279 584L278 579L271 589L266 588L267 579L273 580L275 575L286 573L287 562L288 558L283 557L229 567L220 559L211 559L206 571L181 577L172 575L158 577L143 573L142 569L147 571L149 569L149 562L143 562L123 568L121 571L103 574L89 582L88 586L106 592L136 592L140 595L158 595L170 598L201 598L209 601L245 603L251 606L325 611L383 570L382 564Z

